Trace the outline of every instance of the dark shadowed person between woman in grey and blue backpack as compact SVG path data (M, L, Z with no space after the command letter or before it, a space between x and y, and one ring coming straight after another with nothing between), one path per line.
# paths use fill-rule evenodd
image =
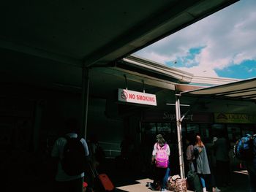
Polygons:
M223 131L219 131L218 139L214 142L214 150L216 154L218 185L230 185L230 145L224 137Z

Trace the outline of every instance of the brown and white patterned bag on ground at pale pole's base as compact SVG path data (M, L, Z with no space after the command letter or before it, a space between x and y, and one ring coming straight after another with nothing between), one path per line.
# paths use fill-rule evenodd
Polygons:
M178 174L170 176L167 181L167 190L174 192L187 191L187 178L182 179Z

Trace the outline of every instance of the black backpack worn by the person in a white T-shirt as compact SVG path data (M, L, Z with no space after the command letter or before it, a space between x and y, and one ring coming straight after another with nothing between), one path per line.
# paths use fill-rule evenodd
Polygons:
M84 172L86 167L86 152L81 137L71 138L66 136L67 143L64 146L61 166L64 172L70 176Z

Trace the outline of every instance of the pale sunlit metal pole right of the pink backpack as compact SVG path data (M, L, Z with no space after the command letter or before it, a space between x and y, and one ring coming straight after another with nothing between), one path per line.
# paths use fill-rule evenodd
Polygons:
M184 158L183 158L183 148L182 148L182 132L181 132L181 110L179 96L176 95L176 125L177 125L177 136L178 136L178 160L181 172L181 178L185 178L184 174Z

